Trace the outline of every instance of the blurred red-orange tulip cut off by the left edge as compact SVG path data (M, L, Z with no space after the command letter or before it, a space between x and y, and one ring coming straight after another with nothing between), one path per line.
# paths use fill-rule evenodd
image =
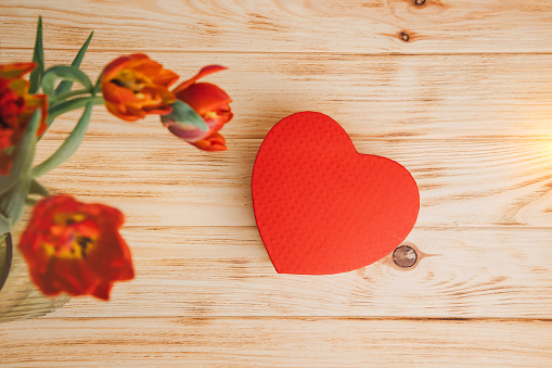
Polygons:
M0 175L10 174L13 147L20 142L37 109L42 110L37 137L48 128L47 97L28 94L29 83L23 79L35 66L35 63L0 65Z

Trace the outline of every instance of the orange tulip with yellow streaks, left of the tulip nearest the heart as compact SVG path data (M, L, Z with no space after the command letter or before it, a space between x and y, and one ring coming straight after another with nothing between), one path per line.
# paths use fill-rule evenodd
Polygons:
M168 114L176 97L168 88L178 75L147 55L136 53L120 56L102 73L105 106L115 116L136 122L147 114Z

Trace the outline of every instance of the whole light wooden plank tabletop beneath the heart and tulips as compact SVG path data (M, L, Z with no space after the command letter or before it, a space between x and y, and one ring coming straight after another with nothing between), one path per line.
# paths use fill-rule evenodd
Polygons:
M54 192L127 216L137 277L0 325L21 366L552 366L552 1L159 0L0 3L0 62L84 69L145 52L202 66L233 98L229 150L202 152L158 118L99 106ZM284 116L323 112L361 153L403 164L422 198L408 242L334 276L278 275L251 199L255 154ZM59 119L51 153L78 114Z

